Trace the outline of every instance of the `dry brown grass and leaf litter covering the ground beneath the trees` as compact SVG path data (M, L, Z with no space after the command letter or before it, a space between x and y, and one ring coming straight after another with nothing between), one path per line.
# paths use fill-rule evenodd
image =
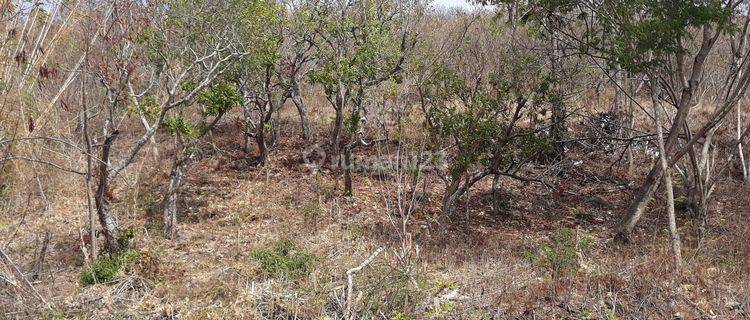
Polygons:
M290 112L285 119L293 117ZM318 123L324 132L326 121ZM257 168L243 165L233 124L218 130L213 141L221 151L190 169L174 240L164 239L158 224L168 163L150 166L143 160L134 165L118 183L116 212L122 226L136 228L134 248L140 255L117 284L84 288L78 281L83 268L78 230L86 225L85 198L78 182L68 177L54 178L69 187L47 194L48 210L33 197L25 211L4 216L0 240L28 270L39 230L52 232L53 246L35 284L56 306L50 317L341 315L346 271L377 247L398 246L383 206L388 190L384 184L393 182L357 175L356 197L340 198L333 174L309 173L299 154L301 142L294 136L283 132L272 163ZM170 152L164 150L161 156ZM586 159L584 154L572 156ZM677 278L658 205L641 224L634 244L620 247L612 242L610 230L632 190L624 171L616 167L610 176L602 159L566 167L565 192L503 180L507 206L500 212L491 209L489 183L480 184L461 201L461 213L446 235L434 231L442 186L433 182L411 225L419 246L414 271L404 276L390 252L381 255L355 277L362 292L360 314L394 319L750 317L750 201L736 197L748 187L731 180L722 184L702 237L696 237L691 221L680 221L687 261L685 276ZM53 184L44 185L53 189ZM20 190L16 196L38 195ZM553 276L529 254L563 228L591 237L592 244L576 256L575 270ZM309 275L278 278L263 272L252 252L279 240L290 240L316 257ZM19 313L9 301L0 299L0 304L5 317L38 316Z

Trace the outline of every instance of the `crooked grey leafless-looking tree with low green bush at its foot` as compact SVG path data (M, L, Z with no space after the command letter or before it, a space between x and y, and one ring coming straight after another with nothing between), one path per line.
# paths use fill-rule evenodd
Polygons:
M141 3L113 4L116 16L107 28L106 38L107 44L117 50L97 48L102 50L97 50L100 62L92 66L106 93L98 120L102 142L94 199L107 251L111 254L120 250L118 224L111 208L115 180L133 163L173 110L189 105L231 62L246 55L236 30L222 20L234 12L231 4L175 3L166 9ZM206 10L212 12L213 24L197 25L195 17L208 16ZM167 17L181 19L182 28L175 29L166 23ZM212 28L212 32L200 28ZM184 33L201 37L182 37ZM112 52L116 56L111 56ZM136 133L133 142L117 146L118 137L129 129L126 120L131 114L147 120L145 132ZM124 152L117 152L120 149Z

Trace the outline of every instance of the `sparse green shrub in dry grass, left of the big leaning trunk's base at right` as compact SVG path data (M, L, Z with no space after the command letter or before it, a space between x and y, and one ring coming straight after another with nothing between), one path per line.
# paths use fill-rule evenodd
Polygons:
M578 257L592 241L591 236L562 228L551 237L550 242L540 245L536 252L526 252L524 255L534 265L547 270L552 278L560 278L578 271Z

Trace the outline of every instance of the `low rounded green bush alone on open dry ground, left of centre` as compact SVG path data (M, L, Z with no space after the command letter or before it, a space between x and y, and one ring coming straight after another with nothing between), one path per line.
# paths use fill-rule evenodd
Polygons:
M273 243L269 248L256 249L252 257L258 260L264 273L271 277L299 278L312 272L315 255L306 253L288 240Z

